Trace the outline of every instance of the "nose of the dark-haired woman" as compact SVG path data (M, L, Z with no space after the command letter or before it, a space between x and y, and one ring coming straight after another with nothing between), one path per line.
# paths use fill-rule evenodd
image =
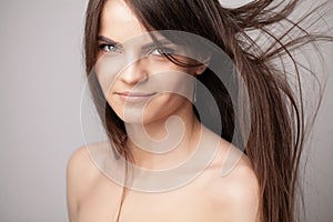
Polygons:
M145 81L147 79L148 72L144 59L132 62L120 74L120 80L130 85Z

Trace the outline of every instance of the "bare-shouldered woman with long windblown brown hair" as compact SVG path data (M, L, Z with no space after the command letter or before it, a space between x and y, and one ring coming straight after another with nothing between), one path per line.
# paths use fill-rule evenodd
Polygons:
M266 28L296 3L90 0L85 68L110 141L72 155L70 221L294 221L303 104L272 61L316 37Z

